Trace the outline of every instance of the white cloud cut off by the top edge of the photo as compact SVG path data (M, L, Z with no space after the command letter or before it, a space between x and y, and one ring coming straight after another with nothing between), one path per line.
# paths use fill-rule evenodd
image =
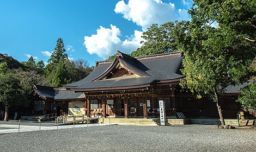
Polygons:
M168 21L187 19L183 13L178 13L173 3L163 3L161 0L130 0L127 4L122 0L115 5L114 11L141 26L143 31L154 23L160 25Z

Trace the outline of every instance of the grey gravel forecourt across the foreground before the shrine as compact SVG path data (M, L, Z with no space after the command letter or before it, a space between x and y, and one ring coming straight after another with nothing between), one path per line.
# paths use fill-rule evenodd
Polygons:
M0 151L256 151L256 130L93 126L0 135Z

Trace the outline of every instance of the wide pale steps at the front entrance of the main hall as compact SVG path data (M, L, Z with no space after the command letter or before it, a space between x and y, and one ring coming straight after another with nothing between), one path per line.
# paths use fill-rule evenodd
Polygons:
M157 118L100 118L100 123L104 124L118 124L118 125L143 125L143 126L157 126L160 125L160 119ZM110 122L110 123L109 123Z

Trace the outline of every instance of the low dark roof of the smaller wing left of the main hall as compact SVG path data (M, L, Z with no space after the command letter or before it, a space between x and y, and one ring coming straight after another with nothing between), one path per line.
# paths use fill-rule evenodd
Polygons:
M84 98L84 94L82 93L75 93L74 91L66 90L65 88L54 88L40 85L34 85L31 93L32 92L45 100L75 100Z

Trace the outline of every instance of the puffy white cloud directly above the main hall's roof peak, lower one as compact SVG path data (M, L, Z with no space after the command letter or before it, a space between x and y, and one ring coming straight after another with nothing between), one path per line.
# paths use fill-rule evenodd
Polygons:
M121 31L111 24L111 28L101 27L96 30L97 34L84 36L84 46L89 54L97 54L103 59L115 54L116 50L123 53L131 53L138 47L141 47L142 31L135 30L135 34L124 41L120 40Z

